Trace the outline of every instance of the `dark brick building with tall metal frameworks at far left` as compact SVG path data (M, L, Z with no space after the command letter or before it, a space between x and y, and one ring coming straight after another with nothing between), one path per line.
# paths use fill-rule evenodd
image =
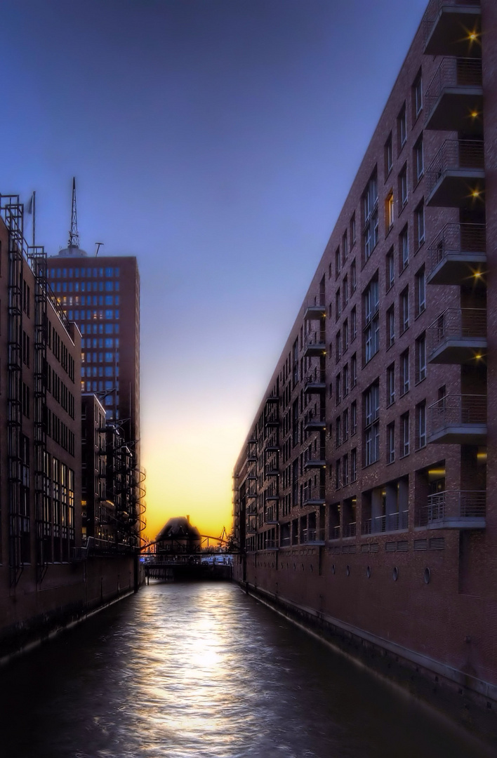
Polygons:
M46 291L18 196L0 220L0 609L4 634L70 603L81 578L80 333Z

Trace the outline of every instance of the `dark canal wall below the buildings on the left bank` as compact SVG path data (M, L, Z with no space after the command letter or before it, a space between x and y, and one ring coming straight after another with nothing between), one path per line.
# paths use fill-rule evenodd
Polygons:
M49 565L39 578L36 567L27 566L0 597L0 666L133 594L145 581L137 556L89 556Z

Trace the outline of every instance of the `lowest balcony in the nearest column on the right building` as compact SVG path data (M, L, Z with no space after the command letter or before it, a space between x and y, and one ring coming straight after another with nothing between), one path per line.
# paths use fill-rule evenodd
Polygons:
M430 529L484 529L485 490L445 490L428 496L420 526Z

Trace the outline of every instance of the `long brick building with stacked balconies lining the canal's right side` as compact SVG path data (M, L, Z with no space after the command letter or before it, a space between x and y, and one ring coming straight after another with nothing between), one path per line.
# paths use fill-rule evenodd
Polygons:
M488 702L496 30L428 5L233 473L239 581Z

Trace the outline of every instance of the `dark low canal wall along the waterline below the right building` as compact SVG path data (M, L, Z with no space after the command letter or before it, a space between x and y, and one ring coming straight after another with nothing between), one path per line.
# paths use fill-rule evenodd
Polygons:
M485 741L497 742L497 688L442 662L348 625L311 606L238 581L247 594Z

